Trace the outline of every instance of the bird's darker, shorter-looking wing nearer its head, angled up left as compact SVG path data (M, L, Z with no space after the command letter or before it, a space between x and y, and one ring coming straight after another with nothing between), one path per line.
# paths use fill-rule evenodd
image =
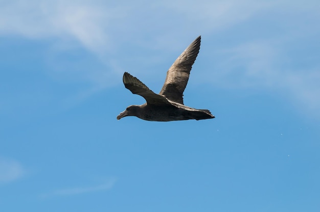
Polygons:
M143 84L138 78L132 76L128 72L123 74L123 84L133 94L138 94L146 99L147 104L156 105L169 105L169 101L166 97L158 95L151 91L145 84Z

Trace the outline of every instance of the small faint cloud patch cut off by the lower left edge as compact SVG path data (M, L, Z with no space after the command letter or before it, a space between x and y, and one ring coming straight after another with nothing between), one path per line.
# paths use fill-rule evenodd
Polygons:
M0 157L0 183L7 183L24 176L25 170L17 161Z

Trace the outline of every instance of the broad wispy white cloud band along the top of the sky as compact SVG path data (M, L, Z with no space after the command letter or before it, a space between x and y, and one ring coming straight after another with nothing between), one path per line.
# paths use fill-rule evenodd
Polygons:
M128 43L148 48L170 48L170 43L176 43L173 35L190 34L191 30L198 35L198 32L226 28L268 5L234 0L205 0L197 4L192 1L102 4L101 1L13 0L0 3L0 6L2 35L76 40L100 54L106 50L117 51ZM148 36L150 33L152 36Z

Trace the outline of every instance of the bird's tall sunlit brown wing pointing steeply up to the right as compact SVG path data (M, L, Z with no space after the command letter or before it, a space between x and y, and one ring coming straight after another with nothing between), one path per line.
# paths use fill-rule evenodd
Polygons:
M201 36L197 37L182 54L174 61L167 72L164 86L160 91L160 95L168 99L184 103L183 93L187 86L190 71L200 49Z

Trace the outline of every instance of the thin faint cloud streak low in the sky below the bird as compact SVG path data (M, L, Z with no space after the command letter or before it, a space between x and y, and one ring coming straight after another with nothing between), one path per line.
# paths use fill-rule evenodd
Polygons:
M95 186L88 186L88 187L76 187L76 188L68 188L68 189L59 189L53 191L51 193L41 195L42 198L48 198L52 196L70 196L70 195L78 195L84 193L93 193L98 191L105 191L111 189L115 183L116 178L111 178L104 183L95 185Z

